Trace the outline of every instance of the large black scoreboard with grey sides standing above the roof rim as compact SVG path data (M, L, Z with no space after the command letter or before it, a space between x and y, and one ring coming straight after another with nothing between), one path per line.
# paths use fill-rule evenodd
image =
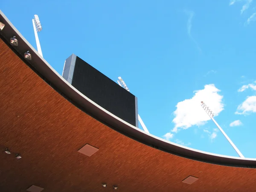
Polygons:
M105 110L138 127L137 97L72 54L64 64L63 78Z

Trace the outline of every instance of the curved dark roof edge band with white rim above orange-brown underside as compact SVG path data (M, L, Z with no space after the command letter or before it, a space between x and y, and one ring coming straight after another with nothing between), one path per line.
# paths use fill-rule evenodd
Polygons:
M39 53L29 44L28 41L20 34L20 32L12 25L8 18L0 10L0 22L5 24L5 27L0 31L0 35L9 42L12 36L16 36L19 41L18 47L12 47L9 45L18 56L23 59L24 52L28 51L32 55L31 61L25 61L30 64L34 70L36 70L41 76L45 77L45 81L50 81L48 84L53 84L52 87L55 90L59 90L62 96L67 96L78 108L82 109L86 113L90 113L95 119L105 123L109 127L121 132L122 134L131 137L151 147L158 148L159 150L169 152L181 157L198 160L206 163L214 163L225 166L247 167L256 168L256 158L241 158L232 157L220 154L213 154L197 149L189 148L183 145L169 142L160 137L156 137L152 134L147 134L144 131L136 128L135 126L123 121L112 113L106 111L101 106L84 96L71 84L69 84L64 78L62 78L48 63L39 55ZM47 80L46 80L47 79ZM56 89L57 88L57 89Z

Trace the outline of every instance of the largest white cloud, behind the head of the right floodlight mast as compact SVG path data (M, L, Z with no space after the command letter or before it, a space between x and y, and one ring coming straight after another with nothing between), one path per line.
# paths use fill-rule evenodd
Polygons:
M201 101L204 101L209 108L215 113L215 116L224 110L222 98L214 84L207 84L202 90L194 91L195 95L191 99L185 99L178 102L174 111L175 118L172 122L175 123L173 132L177 132L180 128L187 129L193 125L204 125L210 117L201 107Z

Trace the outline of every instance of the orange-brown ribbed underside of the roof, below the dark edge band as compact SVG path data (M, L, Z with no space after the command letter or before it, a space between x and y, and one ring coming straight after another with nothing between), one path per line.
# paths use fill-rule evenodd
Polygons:
M132 140L80 111L0 40L0 191L254 192L256 169L202 163ZM99 148L88 157L85 144ZM20 153L22 158L15 159ZM182 180L199 179L188 185ZM102 188L101 183L107 183Z

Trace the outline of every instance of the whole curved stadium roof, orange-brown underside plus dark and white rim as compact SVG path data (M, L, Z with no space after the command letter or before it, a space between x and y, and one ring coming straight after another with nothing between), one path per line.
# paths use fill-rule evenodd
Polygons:
M3 191L32 185L46 192L256 189L256 159L211 154L146 134L67 83L2 12L0 22L0 148L12 152L0 153ZM9 44L14 35L17 47ZM28 50L31 61L23 58ZM91 156L78 152L86 144L96 148ZM183 183L189 176L198 180Z

